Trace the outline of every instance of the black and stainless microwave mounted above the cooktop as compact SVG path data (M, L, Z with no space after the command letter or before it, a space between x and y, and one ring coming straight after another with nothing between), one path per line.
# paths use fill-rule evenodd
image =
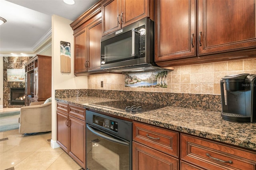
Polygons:
M103 36L100 67L121 72L162 69L154 62L154 22L144 18Z

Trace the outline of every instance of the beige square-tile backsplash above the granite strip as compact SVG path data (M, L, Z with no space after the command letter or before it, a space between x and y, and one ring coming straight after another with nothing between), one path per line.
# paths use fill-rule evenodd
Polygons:
M255 74L256 59L174 67L168 71L167 88L125 87L125 74L89 75L88 89L220 95L220 79L238 73Z

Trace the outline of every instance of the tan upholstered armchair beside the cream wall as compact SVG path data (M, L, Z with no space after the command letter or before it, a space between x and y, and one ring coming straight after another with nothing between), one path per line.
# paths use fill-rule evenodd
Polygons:
M20 134L52 130L52 102L32 102L20 108Z

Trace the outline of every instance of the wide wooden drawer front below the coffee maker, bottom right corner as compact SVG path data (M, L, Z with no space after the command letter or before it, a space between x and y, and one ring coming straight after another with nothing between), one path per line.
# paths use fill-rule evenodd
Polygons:
M181 160L209 170L255 170L256 152L181 134Z

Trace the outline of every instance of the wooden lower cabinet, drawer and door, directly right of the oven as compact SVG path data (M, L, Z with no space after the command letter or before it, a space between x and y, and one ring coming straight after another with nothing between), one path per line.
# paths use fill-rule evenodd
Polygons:
M133 170L178 170L179 133L133 122Z

